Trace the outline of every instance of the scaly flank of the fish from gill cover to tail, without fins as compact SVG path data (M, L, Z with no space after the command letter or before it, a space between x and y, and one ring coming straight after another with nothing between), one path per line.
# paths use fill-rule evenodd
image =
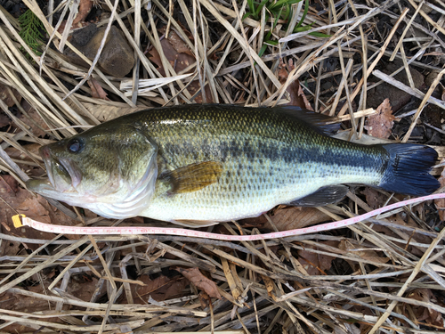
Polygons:
M147 131L158 143L159 154L167 165L223 161L219 182L201 191L169 196L168 185L162 187L158 182L158 191L142 216L166 221L226 221L258 216L323 185L376 184L382 177L383 159L377 158L382 155L378 148L358 151L355 144L328 138L292 116L273 114L270 110L242 111L239 114L231 108L199 107L174 110L170 115L166 110L141 115L140 120L147 124ZM154 121L159 118L166 120ZM201 121L183 125L171 121L175 118ZM333 162L335 157L343 166ZM368 166L353 168L362 159L368 159ZM373 161L376 163L372 164Z

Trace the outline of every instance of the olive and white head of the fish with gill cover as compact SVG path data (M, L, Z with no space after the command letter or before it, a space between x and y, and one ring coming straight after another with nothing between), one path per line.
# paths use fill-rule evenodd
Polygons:
M104 125L41 147L48 178L28 190L101 216L137 216L154 192L158 146L140 128Z

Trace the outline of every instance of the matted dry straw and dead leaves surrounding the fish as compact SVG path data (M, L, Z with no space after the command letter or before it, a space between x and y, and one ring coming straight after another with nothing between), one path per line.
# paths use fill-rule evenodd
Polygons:
M109 14L97 25L118 27L134 50L136 66L125 78L104 75L94 66L97 60L84 57L90 69L69 63L57 49L72 48L83 57L69 43L69 29L57 32L59 20L42 12L35 0L24 3L43 21L53 45L43 46L44 56L36 56L18 35L18 21L0 11L0 107L9 117L0 133L0 331L445 330L441 202L397 209L341 230L255 242L142 235L76 238L14 229L11 222L12 215L24 213L52 224L142 224L137 218L122 222L83 216L85 211L47 202L23 186L30 175L44 175L39 145L154 105L291 102L342 117L345 139L376 143L367 135L373 134L386 141L430 143L443 157L443 2L320 0L308 7L309 2L292 4L289 20L275 20L266 7L257 20L253 15L243 20L247 1L104 0L102 12ZM78 3L57 8L72 12L65 27L75 19ZM54 4L48 6L45 11L52 13ZM305 8L302 27L312 29L294 33ZM313 36L314 31L327 36ZM265 37L272 42L260 57ZM397 64L391 73L384 71L389 61ZM414 71L429 82L417 86ZM406 82L397 77L399 72L406 73ZM201 91L202 86L206 89ZM377 98L374 94L378 104L390 98L394 106L394 97L385 95L390 86L408 94L408 100L405 95L405 101L397 101L398 114L387 102L369 108L369 94L379 86L386 88ZM436 175L441 166L434 168ZM209 230L249 234L291 229L340 220L402 198L356 188L338 205L276 208L257 219Z

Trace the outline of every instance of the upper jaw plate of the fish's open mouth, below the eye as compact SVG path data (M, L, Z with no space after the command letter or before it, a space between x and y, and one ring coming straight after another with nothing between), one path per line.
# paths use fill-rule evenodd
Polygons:
M48 146L41 147L39 151L53 189L63 192L75 191L82 181L82 175L75 163L71 159L56 157Z

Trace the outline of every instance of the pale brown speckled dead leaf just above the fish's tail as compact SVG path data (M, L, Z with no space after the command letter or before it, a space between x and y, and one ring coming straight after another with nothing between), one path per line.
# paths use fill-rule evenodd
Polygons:
M368 117L365 129L373 137L388 139L392 134L394 119L391 103L389 99L384 99L384 102L377 107L376 114Z

